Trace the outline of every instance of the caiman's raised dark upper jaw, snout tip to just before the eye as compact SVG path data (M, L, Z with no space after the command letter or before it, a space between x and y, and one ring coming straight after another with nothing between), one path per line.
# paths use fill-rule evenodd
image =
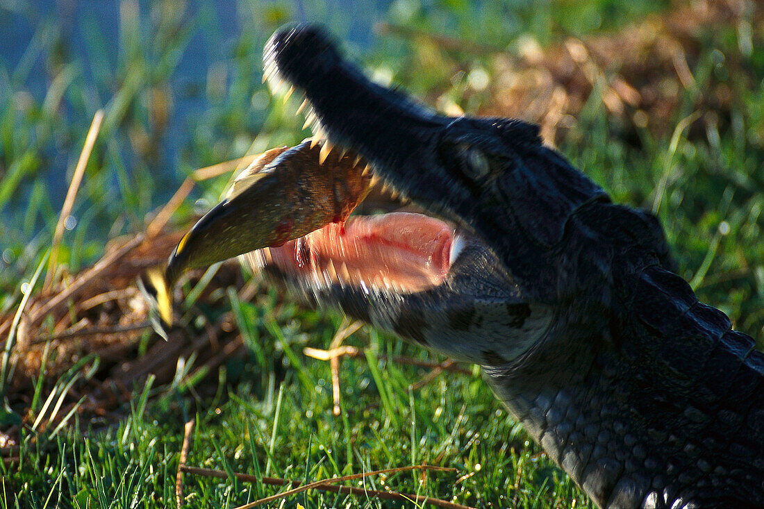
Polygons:
M373 83L314 26L277 31L265 46L264 68L272 86L292 86L305 96L306 125L312 123L316 137L358 152L403 196L468 226L444 206L458 190L442 175L426 174L439 167L435 147L455 118Z

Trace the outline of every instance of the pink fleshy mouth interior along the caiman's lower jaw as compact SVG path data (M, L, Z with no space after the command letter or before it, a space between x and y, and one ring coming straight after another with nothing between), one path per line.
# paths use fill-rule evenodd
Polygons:
M452 226L422 214L351 216L270 248L270 263L326 283L414 292L445 279L453 238Z

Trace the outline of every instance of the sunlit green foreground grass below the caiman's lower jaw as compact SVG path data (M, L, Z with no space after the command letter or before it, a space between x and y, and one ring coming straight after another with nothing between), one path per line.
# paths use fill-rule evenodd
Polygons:
M309 336L294 329L290 332L285 323L279 326L284 344L295 348L316 345L316 337L322 332L328 337L338 322L310 329ZM265 332L267 326L261 327ZM264 334L262 340L270 361L282 361L273 338ZM386 355L426 357L418 349L391 337L377 338L366 329L350 343L368 341ZM371 369L365 361L346 360L341 371L345 412L335 417L329 364L309 358L300 361L312 378L310 383L300 381L298 370L288 365L261 371L266 378L274 371L283 372L283 380L271 380L265 387L257 387L258 373L248 372L233 385L223 374L220 392L224 396L219 400L190 400L183 395L183 387L172 387L152 393L151 404L144 407L139 403L143 391L137 391L130 415L118 426L84 433L73 426L65 438L41 437L35 444L24 441L23 465L8 472L5 482L24 487L19 507L55 507L44 504L50 492L60 507L87 507L86 501L91 507L170 506L183 421L196 416L188 459L193 466L311 481L431 463L458 468L459 473L429 474L425 479L406 473L369 478L365 485L453 498L478 507L507 507L510 501L523 507L555 507L573 498L581 505L581 495L571 481L548 459L537 456L540 449L507 417L477 373L440 376L410 392L410 382L426 371L384 362ZM228 371L237 368L229 366ZM255 381L248 380L250 376ZM383 393L390 398L387 407L380 404ZM455 485L461 475L473 472ZM276 491L186 474L189 507L235 507ZM132 501L138 504L131 505ZM315 492L299 495L285 507L295 507L296 502L305 507L348 503L351 507L398 507ZM12 499L9 506L14 507Z

